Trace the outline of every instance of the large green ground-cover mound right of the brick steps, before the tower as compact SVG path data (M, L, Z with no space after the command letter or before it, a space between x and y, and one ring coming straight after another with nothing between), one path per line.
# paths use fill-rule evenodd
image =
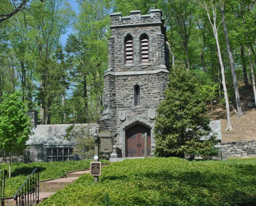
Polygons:
M255 205L256 160L125 160L84 174L40 205Z

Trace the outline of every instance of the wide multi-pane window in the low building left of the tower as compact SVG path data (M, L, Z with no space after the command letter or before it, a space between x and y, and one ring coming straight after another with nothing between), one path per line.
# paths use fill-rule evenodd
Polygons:
M74 160L72 148L48 148L47 162Z

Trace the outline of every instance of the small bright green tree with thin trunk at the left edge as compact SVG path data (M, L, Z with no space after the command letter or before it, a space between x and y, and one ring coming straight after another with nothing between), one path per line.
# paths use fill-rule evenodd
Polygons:
M31 134L31 119L23 110L20 93L4 94L0 103L0 149L9 155L9 177L11 176L11 155L22 152Z

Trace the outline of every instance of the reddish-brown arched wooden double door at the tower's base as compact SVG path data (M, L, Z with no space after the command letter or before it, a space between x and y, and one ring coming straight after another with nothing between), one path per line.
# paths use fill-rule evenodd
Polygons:
M126 157L144 157L144 139L142 134L147 133L147 156L150 156L151 138L150 129L143 125L134 125L126 131Z

